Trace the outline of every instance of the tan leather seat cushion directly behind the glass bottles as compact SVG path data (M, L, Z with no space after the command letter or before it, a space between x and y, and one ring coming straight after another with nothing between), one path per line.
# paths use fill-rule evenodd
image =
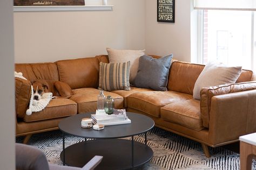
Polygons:
M73 96L69 99L75 101L78 107L78 114L96 111L97 109L97 97L99 95L98 89L95 88L81 88L74 89ZM118 94L104 91L105 96L112 96L114 99L114 108L123 109L124 99Z

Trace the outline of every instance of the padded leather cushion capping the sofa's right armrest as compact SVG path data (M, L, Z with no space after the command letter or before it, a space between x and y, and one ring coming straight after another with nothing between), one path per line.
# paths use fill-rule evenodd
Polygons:
M201 95L201 115L203 118L203 125L205 128L209 127L211 100L213 96L236 93L239 91L256 89L256 81L222 84L220 86L202 88Z

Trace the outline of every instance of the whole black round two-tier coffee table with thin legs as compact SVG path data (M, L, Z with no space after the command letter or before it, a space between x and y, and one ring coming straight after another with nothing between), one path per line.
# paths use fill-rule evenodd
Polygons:
M139 167L152 159L153 151L147 146L146 132L153 128L154 121L147 116L126 112L130 124L105 126L97 131L81 127L81 120L91 117L95 112L78 114L65 118L59 123L63 132L63 151L60 159L63 165L83 167L95 155L102 155L103 160L96 169L130 169ZM77 144L65 148L65 133L85 138ZM145 144L133 140L138 134L145 135ZM118 139L131 137L131 140ZM96 140L86 140L87 138Z

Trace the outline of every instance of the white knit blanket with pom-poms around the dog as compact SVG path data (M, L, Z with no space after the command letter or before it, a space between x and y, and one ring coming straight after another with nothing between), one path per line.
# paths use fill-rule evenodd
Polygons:
M22 73L14 72L14 76L26 80ZM29 101L29 109L26 110L26 115L31 115L32 112L43 110L51 101L52 93L44 93L41 100L33 100L33 86L31 86L31 97Z

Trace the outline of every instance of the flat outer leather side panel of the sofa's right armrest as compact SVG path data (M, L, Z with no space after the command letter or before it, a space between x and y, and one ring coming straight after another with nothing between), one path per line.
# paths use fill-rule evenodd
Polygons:
M256 132L256 90L212 97L209 142L212 145L237 140Z

